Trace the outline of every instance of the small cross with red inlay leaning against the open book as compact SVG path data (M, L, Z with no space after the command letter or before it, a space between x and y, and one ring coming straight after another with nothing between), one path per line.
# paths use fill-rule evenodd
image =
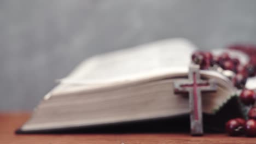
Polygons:
M188 78L188 80L175 81L174 92L189 93L191 135L202 135L203 125L201 92L216 91L217 86L213 79L201 79L199 65L190 64Z

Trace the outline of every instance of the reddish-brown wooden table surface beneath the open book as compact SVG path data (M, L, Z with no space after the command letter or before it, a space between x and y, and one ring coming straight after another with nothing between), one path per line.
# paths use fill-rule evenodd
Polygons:
M0 143L256 143L256 138L225 134L14 134L29 117L29 113L0 113Z

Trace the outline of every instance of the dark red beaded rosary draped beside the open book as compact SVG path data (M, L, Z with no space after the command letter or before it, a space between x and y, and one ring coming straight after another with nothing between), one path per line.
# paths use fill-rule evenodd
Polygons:
M219 56L213 56L211 52L206 51L194 52L191 60L194 64L200 65L200 69L203 70L219 68L231 72L228 77L234 87L241 89L239 99L249 107L249 111L247 120L243 118L230 119L225 125L226 132L231 136L243 134L251 137L256 136L256 107L254 106L256 93L245 88L248 77L256 76L256 46L232 45L228 49L245 53L249 57L249 62L241 64L238 58L231 58L226 52Z

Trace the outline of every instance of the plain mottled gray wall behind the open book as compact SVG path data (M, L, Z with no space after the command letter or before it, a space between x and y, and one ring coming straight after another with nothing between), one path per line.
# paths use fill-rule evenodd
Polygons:
M184 37L256 43L256 1L0 1L0 111L32 110L84 58Z

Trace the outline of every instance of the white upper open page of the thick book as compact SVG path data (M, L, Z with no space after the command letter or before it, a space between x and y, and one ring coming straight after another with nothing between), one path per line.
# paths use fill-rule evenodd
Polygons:
M86 60L61 82L100 84L178 73L188 69L194 50L188 40L170 39L107 53Z

